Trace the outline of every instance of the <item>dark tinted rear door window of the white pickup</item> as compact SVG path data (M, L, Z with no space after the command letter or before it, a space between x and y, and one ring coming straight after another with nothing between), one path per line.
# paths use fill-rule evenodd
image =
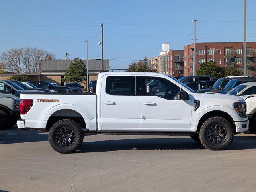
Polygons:
M135 76L108 76L106 93L110 95L135 95Z

